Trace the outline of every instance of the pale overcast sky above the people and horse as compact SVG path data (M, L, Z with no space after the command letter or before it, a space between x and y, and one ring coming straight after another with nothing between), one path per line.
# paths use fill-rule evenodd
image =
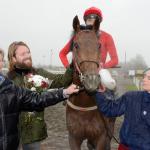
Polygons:
M150 0L0 0L0 47L24 41L34 64L62 66L59 51L70 38L72 20L83 23L86 8L103 12L101 29L115 41L119 60L141 54L150 65Z

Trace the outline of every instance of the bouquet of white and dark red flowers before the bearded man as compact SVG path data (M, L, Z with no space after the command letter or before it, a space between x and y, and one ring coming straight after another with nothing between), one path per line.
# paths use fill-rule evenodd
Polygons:
M38 93L46 91L50 85L48 78L44 78L40 75L28 74L24 77L24 81L25 87ZM25 123L30 123L33 117L36 117L37 120L41 120L40 117L36 116L36 112L27 112L25 113Z

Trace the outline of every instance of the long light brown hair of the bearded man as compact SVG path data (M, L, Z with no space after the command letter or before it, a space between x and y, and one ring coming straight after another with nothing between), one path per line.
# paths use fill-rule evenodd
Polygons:
M9 45L8 48L9 71L13 71L15 69L15 62L13 61L13 57L16 56L16 50L19 46L25 46L29 49L28 45L22 41L13 42Z

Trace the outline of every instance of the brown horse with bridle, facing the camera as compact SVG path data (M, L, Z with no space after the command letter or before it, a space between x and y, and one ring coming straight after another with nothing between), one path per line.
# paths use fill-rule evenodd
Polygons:
M66 106L71 150L81 150L84 140L88 141L89 150L110 150L112 135L109 132L113 133L115 120L106 118L98 111L93 96L100 84L99 24L97 18L93 26L81 29L78 17L73 19L73 83L80 91L69 97Z

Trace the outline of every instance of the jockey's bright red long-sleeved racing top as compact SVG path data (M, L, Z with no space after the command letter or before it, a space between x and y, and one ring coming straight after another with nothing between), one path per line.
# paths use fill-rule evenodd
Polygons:
M101 43L101 63L103 64L103 68L116 66L118 64L118 55L112 36L105 31L100 31L99 34L99 43ZM70 46L74 38L73 36L59 53L59 57L66 68L69 66L67 54L70 52ZM106 62L107 54L110 56L110 60Z

